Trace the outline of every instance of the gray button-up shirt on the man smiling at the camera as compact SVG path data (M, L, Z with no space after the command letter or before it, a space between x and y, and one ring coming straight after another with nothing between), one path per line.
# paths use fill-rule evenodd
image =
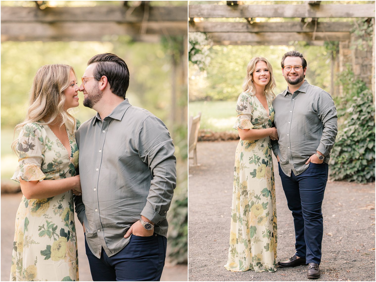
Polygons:
M273 108L279 140L272 142L272 148L286 175L305 171L309 166L305 162L316 151L329 163L337 136L337 110L329 93L304 81L294 93L287 87L277 95Z

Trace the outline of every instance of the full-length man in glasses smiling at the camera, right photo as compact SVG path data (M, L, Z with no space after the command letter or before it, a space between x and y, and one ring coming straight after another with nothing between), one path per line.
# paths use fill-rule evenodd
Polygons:
M273 141L279 175L294 218L296 254L281 267L308 264L307 277L320 277L323 215L329 153L337 135L332 97L306 81L307 62L297 51L281 62L287 89L273 101L278 141Z

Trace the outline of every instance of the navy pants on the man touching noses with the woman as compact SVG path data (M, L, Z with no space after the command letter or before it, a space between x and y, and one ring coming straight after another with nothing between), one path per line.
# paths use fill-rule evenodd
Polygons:
M131 235L129 243L108 257L103 250L100 259L93 255L85 238L86 255L93 281L159 281L166 258L167 239L154 233L141 237Z

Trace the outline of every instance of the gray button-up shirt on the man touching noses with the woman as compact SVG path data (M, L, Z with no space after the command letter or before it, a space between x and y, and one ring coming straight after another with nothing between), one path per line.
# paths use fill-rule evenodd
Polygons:
M76 133L82 197L77 217L85 223L89 248L115 255L128 243L123 236L141 215L166 236L167 210L176 187L174 145L162 120L128 99L103 119L99 114Z

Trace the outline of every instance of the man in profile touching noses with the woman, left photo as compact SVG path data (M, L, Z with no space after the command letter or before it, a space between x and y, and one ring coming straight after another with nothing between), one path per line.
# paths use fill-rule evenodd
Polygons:
M77 130L85 232L94 281L160 280L176 187L174 145L164 123L129 104L129 70L111 53L88 61L83 105L98 113Z

